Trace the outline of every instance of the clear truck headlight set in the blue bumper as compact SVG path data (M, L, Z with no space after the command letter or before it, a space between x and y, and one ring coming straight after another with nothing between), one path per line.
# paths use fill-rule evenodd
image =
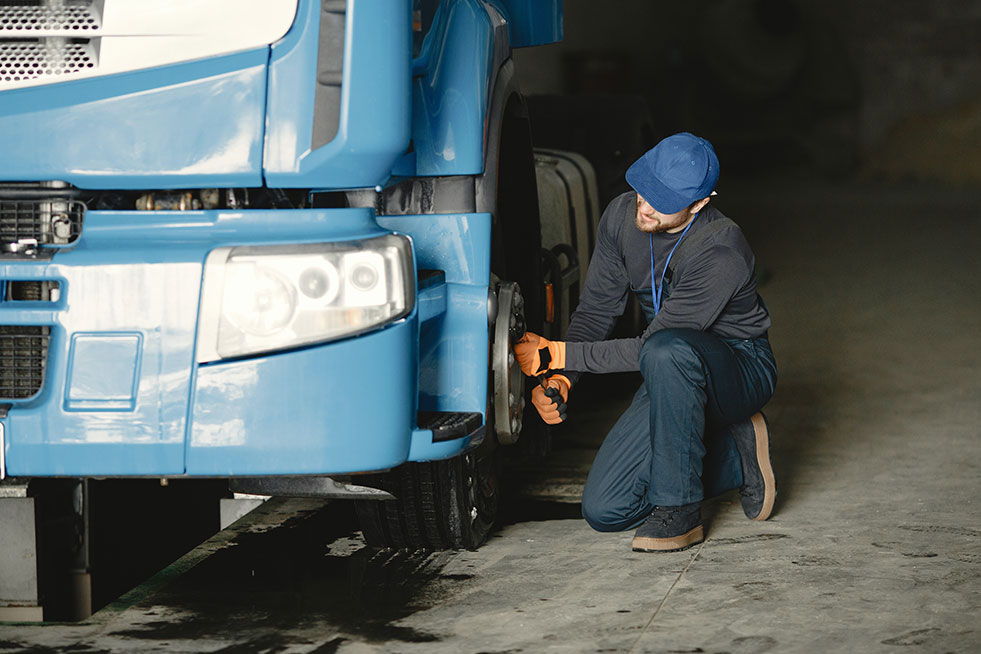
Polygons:
M200 363L353 336L408 315L405 236L225 247L205 261Z

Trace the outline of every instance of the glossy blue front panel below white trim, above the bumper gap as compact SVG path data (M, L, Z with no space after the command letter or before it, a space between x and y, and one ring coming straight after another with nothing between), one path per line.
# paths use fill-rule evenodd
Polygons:
M268 56L259 48L0 93L0 180L261 186Z

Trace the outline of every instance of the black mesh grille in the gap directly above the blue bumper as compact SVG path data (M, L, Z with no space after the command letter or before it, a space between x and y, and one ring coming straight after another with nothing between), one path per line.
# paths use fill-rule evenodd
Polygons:
M17 244L73 243L84 216L85 204L77 200L0 200L0 251Z

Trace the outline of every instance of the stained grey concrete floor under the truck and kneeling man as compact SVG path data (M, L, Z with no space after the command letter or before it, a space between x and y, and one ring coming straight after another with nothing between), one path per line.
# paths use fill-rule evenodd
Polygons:
M555 456L515 471L478 552L373 553L342 508L273 500L87 623L0 625L0 654L981 651L981 194L717 202L773 314L769 521L729 494L702 545L639 554L577 519L636 383L617 376L573 391Z

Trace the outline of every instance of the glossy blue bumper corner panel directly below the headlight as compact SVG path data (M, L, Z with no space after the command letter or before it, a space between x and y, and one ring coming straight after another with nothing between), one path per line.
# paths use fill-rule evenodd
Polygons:
M203 366L189 475L355 472L408 456L416 323L294 352Z

